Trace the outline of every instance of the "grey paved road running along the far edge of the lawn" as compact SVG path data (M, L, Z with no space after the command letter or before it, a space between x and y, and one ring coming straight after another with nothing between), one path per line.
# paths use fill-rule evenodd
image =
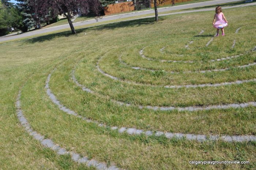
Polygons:
M205 2L200 2L200 3L177 5L177 6L173 6L173 7L158 8L158 13L160 13L160 12L171 12L171 11L176 11L176 10L181 10L181 9L198 8L198 7L208 6L208 5L218 5L218 4L222 4L222 3L229 3L229 2L236 2L236 1L241 1L241 0L213 0L213 1L205 1ZM223 9L241 7L241 6L248 6L248 5L256 5L256 3L246 3L246 4L236 5L236 6L232 6L232 7L223 7ZM172 12L172 13L161 14L159 16L173 15L173 14L178 14L178 13L188 13L188 12L212 11L212 10L215 10L215 8L206 8L206 9ZM150 9L150 10L145 10L145 11L137 11L137 12L131 12L131 13L125 13L125 14L119 14L119 15L103 16L103 18L99 19L98 22L95 19L91 19L91 20L86 20L86 21L82 21L82 22L76 22L76 23L73 23L73 25L74 25L74 27L76 27L76 26L86 26L86 25L89 25L89 24L101 23L101 22L106 22L106 21L111 21L111 20L130 18L130 17L135 17L135 16L139 17L141 15L148 15L148 14L154 15L154 13L155 13L154 9ZM150 17L152 17L152 15L147 16L147 17L142 17L142 18L150 18ZM136 18L136 19L139 19L139 18ZM127 19L127 20L131 20L131 19ZM17 38L24 38L24 37L27 37L27 36L32 36L32 35L37 35L37 34L43 34L43 33L46 33L46 32L63 30L63 29L66 29L66 28L70 28L69 24L64 24L64 25L61 25L61 26L45 28L45 29L41 29L41 30L29 31L29 32L25 32L25 33L19 34L19 35L4 36L4 37L0 37L0 42L7 41L7 40L13 40L13 39L17 39Z

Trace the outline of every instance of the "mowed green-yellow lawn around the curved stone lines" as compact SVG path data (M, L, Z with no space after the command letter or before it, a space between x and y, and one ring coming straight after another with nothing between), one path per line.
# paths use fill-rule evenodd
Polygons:
M21 109L33 130L67 151L106 165L120 169L256 169L256 142L198 142L118 133L61 111L45 88L52 73L49 88L61 104L111 127L256 135L253 106L201 111L140 108L255 102L255 9L223 10L229 26L226 36L219 37L214 37L211 11L160 17L157 23L154 18L112 23L76 30L76 35L67 31L1 44L0 169L95 169L72 161L69 155L58 155L26 132L16 115L19 90ZM94 93L83 91L72 80L73 74ZM223 84L236 81L242 83ZM221 85L185 87L202 84ZM250 164L189 164L193 160Z

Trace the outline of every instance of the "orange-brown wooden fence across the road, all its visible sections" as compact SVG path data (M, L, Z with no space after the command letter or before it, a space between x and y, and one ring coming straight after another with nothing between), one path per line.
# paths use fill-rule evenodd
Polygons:
M175 3L182 3L187 2L191 0L175 0ZM157 0L158 6L163 5L169 5L172 4L172 0ZM154 8L154 0L151 0L151 8ZM132 1L123 2L123 3L116 3L116 4L110 4L104 8L105 15L110 15L114 13L120 13L120 12L128 12L128 11L134 11L135 7L133 5Z

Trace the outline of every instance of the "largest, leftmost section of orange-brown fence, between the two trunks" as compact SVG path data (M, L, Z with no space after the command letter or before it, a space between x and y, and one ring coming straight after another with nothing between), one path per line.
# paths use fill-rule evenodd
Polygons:
M124 3L117 3L117 4L110 4L104 8L105 15L110 15L114 13L120 12L128 12L134 11L134 5L132 1L124 2Z

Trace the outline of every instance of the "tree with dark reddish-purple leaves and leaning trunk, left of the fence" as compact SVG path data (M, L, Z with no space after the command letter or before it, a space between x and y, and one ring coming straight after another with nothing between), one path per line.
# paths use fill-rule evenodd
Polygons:
M76 34L71 19L78 13L87 14L89 11L98 16L102 6L99 0L48 0L42 10L46 10L49 13L49 9L52 9L59 15L63 14L66 16L72 34Z

